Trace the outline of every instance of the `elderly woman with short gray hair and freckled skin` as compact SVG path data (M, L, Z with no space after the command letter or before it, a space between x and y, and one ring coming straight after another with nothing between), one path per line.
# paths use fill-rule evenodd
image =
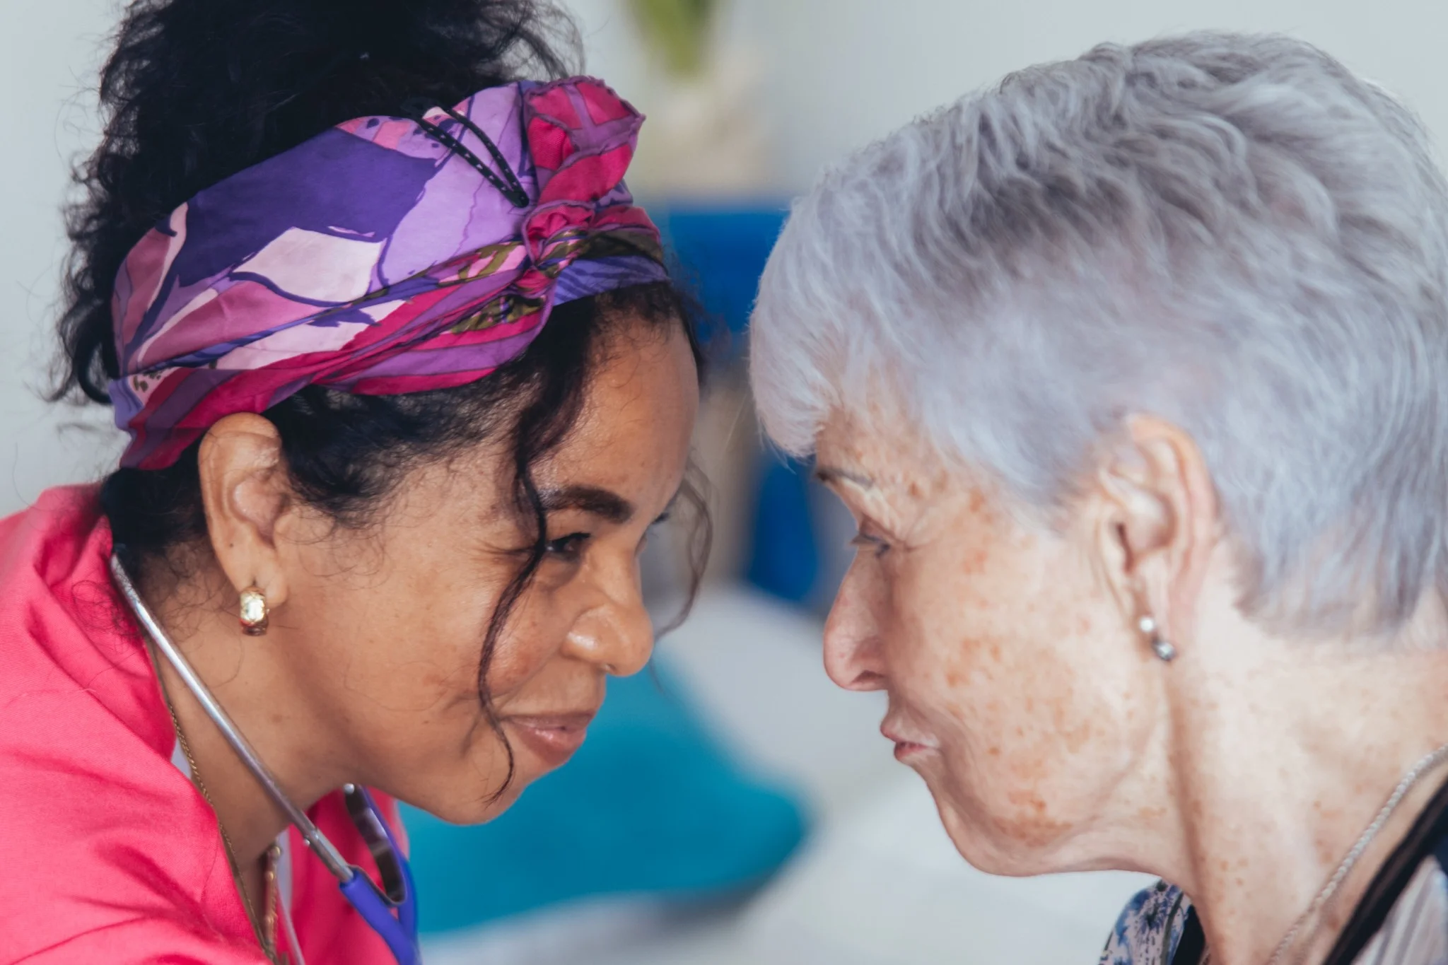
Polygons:
M1163 878L1103 962L1448 961L1445 285L1418 122L1274 36L1014 74L795 208L753 379L859 524L827 671L972 864Z

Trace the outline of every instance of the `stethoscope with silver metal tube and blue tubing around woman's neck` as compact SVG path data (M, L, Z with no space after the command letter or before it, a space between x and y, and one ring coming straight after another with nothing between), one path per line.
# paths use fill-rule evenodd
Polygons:
M232 745L232 749L242 760L242 764L246 765L246 770L252 773L252 777L262 786L268 797L285 812L291 823L301 832L301 839L307 842L307 848L317 855L321 864L327 867L327 871L337 880L342 896L356 909L362 920L387 942L392 958L397 959L397 965L420 965L417 891L413 887L413 871L407 865L407 858L403 856L403 849L398 846L392 829L372 802L372 796L368 794L366 788L356 784L346 784L342 788L352 823L356 825L362 833L362 839L376 858L385 891L378 888L365 871L349 864L342 856L342 852L327 841L327 836L311 823L311 819L281 790L277 778L262 764L256 751L252 749L252 745L248 744L246 738L236 728L236 723L222 709L222 705L211 696L211 692L201 681L201 677L197 676L181 650L161 628L159 621L152 615L146 602L140 599L140 593L136 592L135 584L130 582L130 574L126 573L126 567L116 553L111 553L110 557L110 574L116 582L116 587L126 599L126 605L136 615L136 619L145 628L156 650L175 668L177 676L181 677L187 689L201 705L201 709L206 710L206 716L211 719L211 723L217 726L226 742Z

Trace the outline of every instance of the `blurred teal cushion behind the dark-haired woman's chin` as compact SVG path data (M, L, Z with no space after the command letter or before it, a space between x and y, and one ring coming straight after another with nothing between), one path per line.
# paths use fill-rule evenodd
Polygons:
M421 929L463 929L601 894L699 898L762 883L805 833L783 791L746 775L665 668L610 680L572 761L488 825L404 807Z

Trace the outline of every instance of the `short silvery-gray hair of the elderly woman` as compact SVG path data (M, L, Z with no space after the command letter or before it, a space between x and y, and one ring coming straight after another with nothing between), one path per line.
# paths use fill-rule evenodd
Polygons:
M1108 43L825 172L765 271L754 394L807 453L831 408L892 386L1034 508L1125 415L1171 420L1248 613L1390 631L1448 584L1445 227L1422 126L1322 51Z

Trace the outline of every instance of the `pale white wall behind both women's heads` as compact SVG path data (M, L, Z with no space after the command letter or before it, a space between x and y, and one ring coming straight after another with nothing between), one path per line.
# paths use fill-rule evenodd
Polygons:
M623 0L572 0L589 71L644 111L657 81ZM35 399L49 350L64 247L56 205L65 163L93 129L84 91L109 0L4 0L0 184L0 512L56 480L100 472L107 437L59 434L72 412ZM1192 27L1287 30L1397 91L1448 136L1448 3L1442 0L734 0L723 43L757 55L759 109L775 137L782 191L831 158L1002 74L1073 56L1099 41ZM77 97L80 101L77 103ZM647 136L647 135L646 135ZM94 420L93 420L94 421Z

